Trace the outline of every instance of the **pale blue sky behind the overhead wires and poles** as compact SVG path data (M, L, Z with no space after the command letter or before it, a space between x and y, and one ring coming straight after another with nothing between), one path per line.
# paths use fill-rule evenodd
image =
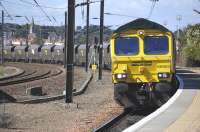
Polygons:
M50 6L61 9L43 8L47 14L51 17L52 22L44 16L44 14L34 6L33 0L0 0L6 7L11 15L23 15L29 19L34 17L37 24L41 25L61 25L64 23L64 11L67 9L67 0L37 0L39 4L44 6ZM25 2L33 3L29 5ZM80 3L86 0L76 0L76 3ZM91 0L92 1L92 0ZM93 0L97 1L97 0ZM150 0L105 0L105 12L114 14L124 14L132 17L119 17L105 15L105 25L114 25L112 28L117 28L118 25L125 24L138 17L147 18L151 9L152 2ZM0 7L2 9L2 7ZM92 18L99 17L99 2L91 4L90 18L91 24L99 24L99 20ZM165 24L170 30L174 31L177 28L177 15L182 16L180 23L181 27L185 27L188 24L200 23L200 15L196 14L193 9L200 10L199 0L159 0L150 20ZM82 17L83 8L76 8L76 25L85 25L85 15ZM86 9L84 9L84 14ZM56 18L56 22L52 16ZM23 18L15 18L14 20L6 19L6 22L12 23L25 23Z

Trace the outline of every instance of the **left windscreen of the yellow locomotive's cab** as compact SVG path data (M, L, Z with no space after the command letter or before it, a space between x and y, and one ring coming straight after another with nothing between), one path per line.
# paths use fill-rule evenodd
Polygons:
M136 37L120 37L115 39L116 55L136 55L139 52L139 40Z

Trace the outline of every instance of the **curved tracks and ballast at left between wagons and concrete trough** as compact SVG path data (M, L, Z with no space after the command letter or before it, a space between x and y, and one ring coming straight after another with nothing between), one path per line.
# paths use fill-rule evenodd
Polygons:
M7 63L5 65L20 68L24 71L18 76L0 80L0 91L12 96L18 102L32 103L64 98L65 74L64 69L60 66L28 63ZM86 78L86 81L82 81L81 78L85 78L87 74L75 78L78 81L75 87L78 86L78 89L73 93L74 96L80 95L85 91L88 82L92 78L92 74L90 75ZM43 95L31 96L27 94L27 89L35 87L41 87Z

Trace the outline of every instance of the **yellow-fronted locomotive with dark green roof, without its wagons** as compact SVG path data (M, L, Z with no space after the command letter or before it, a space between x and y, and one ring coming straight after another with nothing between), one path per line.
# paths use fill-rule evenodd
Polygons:
M140 18L115 30L110 47L117 102L125 107L159 106L168 100L175 81L172 32Z

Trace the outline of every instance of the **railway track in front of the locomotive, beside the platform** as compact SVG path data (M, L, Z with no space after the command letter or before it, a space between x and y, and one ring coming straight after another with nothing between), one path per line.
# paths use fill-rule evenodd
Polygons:
M121 132L155 110L156 108L125 109L118 116L94 129L93 132Z

